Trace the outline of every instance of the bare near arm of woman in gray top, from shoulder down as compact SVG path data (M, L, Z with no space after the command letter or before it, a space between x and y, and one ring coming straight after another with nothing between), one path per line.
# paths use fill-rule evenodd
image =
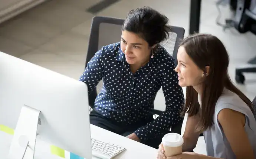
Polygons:
M236 159L254 159L252 146L244 131L244 114L231 109L223 109L218 114L217 119L236 155ZM193 152L184 152L181 155L167 159L178 159L180 157L185 159L220 159Z

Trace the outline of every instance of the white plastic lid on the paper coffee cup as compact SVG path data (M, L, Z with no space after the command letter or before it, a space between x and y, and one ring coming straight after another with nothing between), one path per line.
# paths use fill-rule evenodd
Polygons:
M178 147L180 145L183 145L184 140L180 134L168 133L165 134L164 137L162 138L162 143L165 146Z

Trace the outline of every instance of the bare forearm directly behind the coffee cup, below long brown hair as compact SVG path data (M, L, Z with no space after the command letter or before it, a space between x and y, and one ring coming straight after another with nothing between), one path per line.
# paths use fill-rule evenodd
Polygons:
M196 127L199 121L200 117L198 115L187 118L186 128L183 134L184 144L182 151L192 151L194 148L196 148L196 144L200 135L200 132L196 131Z

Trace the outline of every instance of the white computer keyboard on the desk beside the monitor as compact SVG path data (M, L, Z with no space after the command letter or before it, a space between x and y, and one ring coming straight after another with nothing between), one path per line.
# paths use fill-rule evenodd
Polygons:
M101 159L112 159L119 153L125 151L125 148L111 144L109 142L102 142L91 138L92 155Z

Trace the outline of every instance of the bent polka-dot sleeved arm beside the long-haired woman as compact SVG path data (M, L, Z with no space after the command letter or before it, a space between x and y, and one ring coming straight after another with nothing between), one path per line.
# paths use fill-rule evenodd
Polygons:
M174 61L170 60L166 62L162 72L163 80L161 86L165 97L165 111L154 121L134 132L142 142L162 134L169 130L171 125L175 125L181 120L180 110L183 106L184 95L182 88L178 85L178 77L177 73L174 72L174 67Z

